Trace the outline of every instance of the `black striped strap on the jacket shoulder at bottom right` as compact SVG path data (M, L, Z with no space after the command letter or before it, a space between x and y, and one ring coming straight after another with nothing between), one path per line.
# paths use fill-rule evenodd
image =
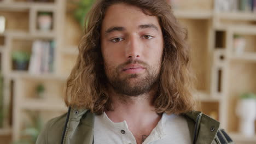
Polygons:
M216 134L216 141L219 144L235 143L231 137L224 131L224 129L219 129Z

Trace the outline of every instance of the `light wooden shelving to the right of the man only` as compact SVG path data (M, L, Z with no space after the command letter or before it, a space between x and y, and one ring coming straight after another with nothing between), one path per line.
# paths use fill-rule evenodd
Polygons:
M220 127L236 143L256 143L255 136L238 132L239 118L235 112L238 95L246 91L256 93L255 13L216 12L214 0L179 2L181 5L173 11L188 28L196 83L200 83L196 84L199 92L194 94L201 101L198 109L210 116L217 112L215 118ZM240 54L234 52L235 34L246 39L247 46Z

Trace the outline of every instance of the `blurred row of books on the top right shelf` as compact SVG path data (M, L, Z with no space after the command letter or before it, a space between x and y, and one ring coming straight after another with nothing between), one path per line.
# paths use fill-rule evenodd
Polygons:
M215 0L216 11L256 13L256 0Z

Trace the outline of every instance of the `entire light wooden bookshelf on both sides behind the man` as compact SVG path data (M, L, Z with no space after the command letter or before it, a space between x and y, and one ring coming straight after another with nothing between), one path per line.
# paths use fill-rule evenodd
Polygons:
M198 109L218 119L236 143L256 143L255 136L248 138L238 133L235 115L237 96L243 91L256 93L255 13L219 11L214 0L179 1L173 8L174 15L189 32L192 65L197 77L194 95L201 101ZM61 0L0 2L0 15L7 19L6 31L0 34L0 69L4 76L4 107L8 110L5 126L0 128L0 143L1 136L20 139L26 121L31 121L31 112L40 113L44 123L66 112L63 88L83 35L73 18L74 9L75 5ZM37 17L41 11L53 17L50 31L39 31ZM241 35L246 41L242 53L235 53L234 35ZM53 73L31 74L28 70L13 69L11 52L31 53L35 40L55 41ZM38 83L43 83L46 89L43 99L34 92Z

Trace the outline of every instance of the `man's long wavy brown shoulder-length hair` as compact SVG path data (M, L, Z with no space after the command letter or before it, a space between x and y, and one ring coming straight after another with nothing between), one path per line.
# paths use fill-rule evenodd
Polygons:
M193 74L187 31L174 17L165 0L98 0L86 17L79 54L67 80L67 106L88 109L101 114L112 110L107 93L107 80L101 53L100 32L104 14L110 5L124 3L141 8L147 15L157 16L164 38L164 51L158 92L153 99L157 113L185 113L194 109Z

